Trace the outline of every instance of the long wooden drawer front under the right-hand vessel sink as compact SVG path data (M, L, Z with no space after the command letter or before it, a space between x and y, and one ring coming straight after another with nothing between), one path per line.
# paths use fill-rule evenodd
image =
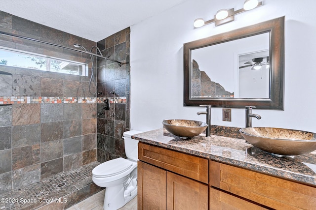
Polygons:
M209 166L211 186L274 209L316 209L315 187L214 161Z

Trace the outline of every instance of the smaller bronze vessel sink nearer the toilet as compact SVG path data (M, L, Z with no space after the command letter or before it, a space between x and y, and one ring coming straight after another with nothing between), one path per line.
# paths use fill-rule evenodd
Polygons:
M195 120L163 120L162 124L167 131L184 139L201 134L208 126Z

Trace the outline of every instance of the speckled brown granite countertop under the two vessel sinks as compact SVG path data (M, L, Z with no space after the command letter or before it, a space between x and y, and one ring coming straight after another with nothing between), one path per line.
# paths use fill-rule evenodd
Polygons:
M276 157L243 139L205 134L181 139L164 128L132 136L140 142L240 166L253 171L316 186L316 150L296 156Z

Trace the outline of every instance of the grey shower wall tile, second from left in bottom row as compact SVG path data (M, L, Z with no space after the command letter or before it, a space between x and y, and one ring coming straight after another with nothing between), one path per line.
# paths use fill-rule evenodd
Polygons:
M40 164L12 171L12 189L20 189L40 181Z

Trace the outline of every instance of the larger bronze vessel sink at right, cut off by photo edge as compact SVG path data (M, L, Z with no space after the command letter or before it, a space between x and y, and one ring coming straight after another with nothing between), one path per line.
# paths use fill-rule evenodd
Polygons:
M316 134L307 131L246 127L239 132L251 145L276 155L299 155L316 150Z

